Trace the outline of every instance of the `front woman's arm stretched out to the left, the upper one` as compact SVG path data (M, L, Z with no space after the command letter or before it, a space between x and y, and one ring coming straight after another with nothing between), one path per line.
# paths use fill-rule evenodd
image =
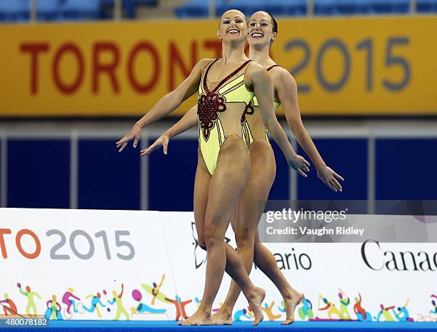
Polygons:
M169 94L159 99L154 107L146 113L139 121L134 124L132 129L122 139L116 142L116 146L119 152L123 151L129 141L134 140L134 148L138 144L141 137L141 129L154 121L162 119L164 116L169 115L172 111L178 108L183 101L192 96L197 89L199 89L199 83L201 80L201 72L204 67L209 64L211 59L202 59L191 70L190 75Z

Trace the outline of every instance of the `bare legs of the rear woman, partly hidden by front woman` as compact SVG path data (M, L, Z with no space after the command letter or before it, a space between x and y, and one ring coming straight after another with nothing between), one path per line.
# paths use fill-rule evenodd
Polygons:
M238 203L238 218L235 223L238 254L250 273L252 261L261 271L273 281L281 292L286 307L286 321L283 324L293 323L294 309L302 299L302 294L294 290L283 273L278 268L276 258L263 246L258 238L258 221L265 207L268 192L273 184L276 173L276 162L273 150L265 141L255 141L251 144L251 176L240 202ZM236 283L231 283L226 301L220 311L214 316L217 323L232 323L232 309L235 305L240 289Z

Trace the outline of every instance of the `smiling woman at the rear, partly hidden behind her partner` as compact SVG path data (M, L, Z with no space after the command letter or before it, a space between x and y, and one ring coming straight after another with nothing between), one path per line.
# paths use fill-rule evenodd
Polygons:
M248 28L249 58L261 64L273 79L274 109L276 110L280 104L283 105L291 131L316 165L318 177L333 191L341 191L341 185L336 178L340 180L343 178L326 166L303 126L298 109L296 81L286 69L278 66L269 56L271 44L278 34L276 20L265 11L257 11L251 16ZM231 28L226 31L231 31ZM261 104L258 97L256 92L256 96L253 97L250 104L246 105L240 119L241 131L250 151L251 173L239 198L238 207L232 219L232 227L236 235L238 255L241 256L246 271L250 273L252 263L255 263L273 281L281 292L285 303L286 321L283 321L283 324L290 324L294 322L294 310L303 298L303 294L291 287L283 273L278 269L273 254L268 251L266 246L263 246L258 236L258 221L261 218L276 173L276 161L268 139L268 127L263 116L265 106ZM200 107L201 104L199 104L199 111L201 111ZM189 129L197 118L201 121L199 111L199 116L195 114L196 107L187 112L181 121L166 131L149 149L144 151L144 154L149 154L161 145L164 146L164 154L166 154L167 144L169 144L171 136L176 136ZM274 139L277 137L272 136ZM306 177L304 171L308 171L308 167L305 164L303 168L298 166L293 166L293 168L301 176ZM201 234L199 234L199 238L200 236ZM240 288L232 281L226 301L212 317L214 323L232 323L233 306L235 306L239 293Z

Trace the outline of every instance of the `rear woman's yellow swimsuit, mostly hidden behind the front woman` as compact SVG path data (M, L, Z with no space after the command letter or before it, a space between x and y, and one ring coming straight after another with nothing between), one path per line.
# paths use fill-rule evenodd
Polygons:
M274 64L273 66L268 67L267 71L271 71L271 69L276 66L278 65ZM281 105L281 103L275 101L275 111L278 109L279 105ZM261 114L257 109L255 109L258 106L258 100L256 100L256 97L253 97L251 103L246 106L243 116L241 116L241 131L243 131L243 136L247 146L250 146L256 139L263 139L270 143L268 140L268 131L263 124Z

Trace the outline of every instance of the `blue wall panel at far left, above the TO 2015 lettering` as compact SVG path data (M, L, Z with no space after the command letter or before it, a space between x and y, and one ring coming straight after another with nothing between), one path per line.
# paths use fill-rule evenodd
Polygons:
M9 139L7 206L69 208L70 141Z

